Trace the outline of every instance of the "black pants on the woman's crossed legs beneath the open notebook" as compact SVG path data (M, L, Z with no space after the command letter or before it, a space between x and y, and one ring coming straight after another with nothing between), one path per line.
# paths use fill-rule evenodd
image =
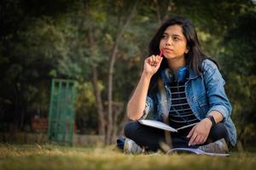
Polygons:
M148 127L139 122L127 122L125 125L125 136L134 140L138 145L146 147L148 150L160 149L160 142L172 141L172 147L190 147L197 148L199 145L189 146L187 135L192 127L179 130L177 133L170 133L159 128ZM209 144L218 139L224 138L227 144L230 143L228 132L223 122L218 122L212 126L208 135L207 142ZM171 139L171 140L170 140ZM201 144L202 145L202 144Z

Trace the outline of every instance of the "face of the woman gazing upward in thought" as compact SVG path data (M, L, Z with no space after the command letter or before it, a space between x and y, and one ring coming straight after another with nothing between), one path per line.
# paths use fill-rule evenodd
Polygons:
M184 58L189 49L183 28L178 25L168 26L160 40L160 49L164 51L166 59Z

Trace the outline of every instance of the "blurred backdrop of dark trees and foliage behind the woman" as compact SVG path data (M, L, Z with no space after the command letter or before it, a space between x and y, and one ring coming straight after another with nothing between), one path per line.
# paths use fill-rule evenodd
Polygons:
M255 146L253 0L2 0L0 142L44 143L68 133L70 144L113 144L148 43L176 15L192 20L201 47L219 62L238 144ZM60 89L69 88L60 81L74 82L64 95ZM51 127L61 111L70 123Z

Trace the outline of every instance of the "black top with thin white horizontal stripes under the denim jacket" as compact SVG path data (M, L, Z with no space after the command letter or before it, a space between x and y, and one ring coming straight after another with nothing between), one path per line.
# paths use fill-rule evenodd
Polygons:
M185 94L185 82L171 82L172 106L169 112L169 123L178 128L199 122L191 111Z

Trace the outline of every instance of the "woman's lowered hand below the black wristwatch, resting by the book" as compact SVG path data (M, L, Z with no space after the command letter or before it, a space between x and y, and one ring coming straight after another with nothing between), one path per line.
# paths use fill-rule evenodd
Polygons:
M193 127L187 138L190 138L189 145L204 144L207 141L208 135L212 127L212 122L205 118Z

